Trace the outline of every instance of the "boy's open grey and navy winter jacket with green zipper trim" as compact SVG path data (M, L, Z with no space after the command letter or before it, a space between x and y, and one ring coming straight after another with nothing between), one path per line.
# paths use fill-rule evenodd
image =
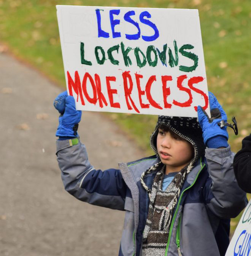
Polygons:
M78 140L56 143L65 190L92 205L126 211L119 256L140 256L149 206L140 176L159 158L154 155L101 171L91 165L85 146ZM235 179L233 158L230 147L207 148L205 160L201 159L187 175L174 209L165 256L180 256L178 248L182 256L224 256L230 218L247 203ZM148 187L154 175L145 176Z

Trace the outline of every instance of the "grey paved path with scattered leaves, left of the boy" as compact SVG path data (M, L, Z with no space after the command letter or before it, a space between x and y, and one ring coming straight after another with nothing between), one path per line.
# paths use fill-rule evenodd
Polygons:
M0 54L0 255L118 255L124 212L91 206L65 192L55 155L62 90ZM142 157L117 126L95 112L79 125L95 168Z

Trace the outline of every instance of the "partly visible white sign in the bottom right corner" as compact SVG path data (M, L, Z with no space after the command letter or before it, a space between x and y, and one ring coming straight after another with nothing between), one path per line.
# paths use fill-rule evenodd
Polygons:
M235 229L226 256L251 256L251 200Z

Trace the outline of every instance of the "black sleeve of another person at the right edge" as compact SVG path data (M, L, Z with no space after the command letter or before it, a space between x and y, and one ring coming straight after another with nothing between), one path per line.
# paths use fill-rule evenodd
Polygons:
M234 173L241 189L251 193L251 134L243 139L242 149L234 157Z

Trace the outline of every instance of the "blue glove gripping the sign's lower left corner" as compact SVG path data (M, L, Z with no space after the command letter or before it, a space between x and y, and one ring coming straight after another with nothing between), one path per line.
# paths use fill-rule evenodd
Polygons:
M67 96L67 92L61 93L55 99L54 106L61 113L56 136L59 136L59 139L61 139L60 137L77 137L78 123L81 120L82 112L76 110L74 98Z

